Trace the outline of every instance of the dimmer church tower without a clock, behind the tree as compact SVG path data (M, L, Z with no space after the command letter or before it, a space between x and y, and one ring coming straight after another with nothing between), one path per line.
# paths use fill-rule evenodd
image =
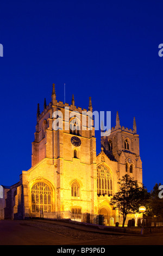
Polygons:
M109 136L101 138L105 154L117 161L118 179L125 174L130 175L142 185L142 162L139 150L139 135L136 132L134 117L133 130L120 125L120 117L116 114L116 125L111 128Z

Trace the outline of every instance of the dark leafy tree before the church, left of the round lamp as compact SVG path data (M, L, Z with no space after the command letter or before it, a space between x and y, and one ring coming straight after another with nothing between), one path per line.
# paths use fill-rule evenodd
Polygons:
M113 210L118 209L122 214L124 227L127 215L138 212L139 206L146 204L149 193L127 174L119 179L118 184L119 191L112 197L110 205L113 206Z

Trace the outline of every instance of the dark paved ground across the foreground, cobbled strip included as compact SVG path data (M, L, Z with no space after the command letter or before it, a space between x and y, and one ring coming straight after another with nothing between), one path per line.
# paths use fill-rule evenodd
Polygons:
M163 233L140 235L123 233L121 228L112 230L71 220L3 220L0 245L163 245Z

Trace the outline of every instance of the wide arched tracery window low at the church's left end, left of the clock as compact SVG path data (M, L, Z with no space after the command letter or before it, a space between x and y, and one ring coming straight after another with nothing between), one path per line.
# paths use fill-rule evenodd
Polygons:
M32 212L52 211L52 191L44 182L37 182L31 190Z

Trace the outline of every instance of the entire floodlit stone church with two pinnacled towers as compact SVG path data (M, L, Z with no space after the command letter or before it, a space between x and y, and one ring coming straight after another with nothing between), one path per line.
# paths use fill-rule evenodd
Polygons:
M27 216L53 216L55 212L78 212L112 215L110 198L118 191L118 179L130 175L142 185L142 162L139 135L133 129L116 125L108 136L101 137L101 153L96 154L95 127L83 124L88 109L57 101L55 84L52 101L37 106L36 129L32 143L32 167L23 170L17 184L0 186L0 219L24 219ZM68 111L68 119L65 116ZM78 115L71 115L71 113ZM60 113L60 115L54 114ZM58 129L54 129L55 120ZM68 129L65 127L68 127Z

